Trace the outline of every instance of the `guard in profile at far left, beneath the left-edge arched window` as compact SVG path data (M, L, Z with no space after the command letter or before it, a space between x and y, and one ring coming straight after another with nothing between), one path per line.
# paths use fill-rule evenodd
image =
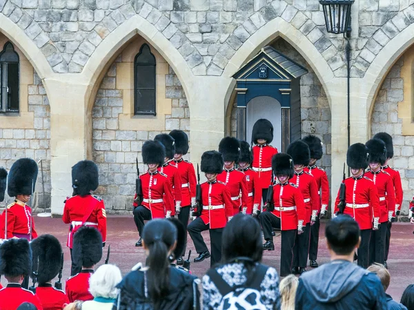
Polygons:
M3 211L2 220L7 222L4 227L6 239L16 237L32 241L37 238L32 209L27 205L34 192L37 172L37 164L30 158L18 159L10 168L7 191L15 199Z

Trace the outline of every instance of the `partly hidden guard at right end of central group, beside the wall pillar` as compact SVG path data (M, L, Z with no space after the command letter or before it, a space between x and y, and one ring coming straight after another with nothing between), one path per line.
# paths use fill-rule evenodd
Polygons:
M311 240L309 241L309 265L312 268L318 267L317 264L317 249L319 246L319 215L324 216L329 204L329 183L326 171L317 166L316 162L322 158L324 154L322 151L321 139L314 135L308 135L302 139L303 142L308 144L309 151L311 151L311 161L308 166L304 168L305 172L310 173L317 185L318 195L321 197L321 209L316 216L315 224L311 226Z

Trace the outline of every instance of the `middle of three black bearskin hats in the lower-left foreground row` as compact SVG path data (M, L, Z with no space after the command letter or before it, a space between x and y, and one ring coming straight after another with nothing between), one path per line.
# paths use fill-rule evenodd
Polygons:
M62 247L53 235L41 235L30 243L32 248L32 271L37 271L40 284L57 276L61 268Z

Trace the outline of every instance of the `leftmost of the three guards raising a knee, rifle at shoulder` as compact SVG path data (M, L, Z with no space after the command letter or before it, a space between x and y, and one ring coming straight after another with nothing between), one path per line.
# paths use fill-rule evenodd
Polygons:
M134 209L134 221L139 232L139 240L135 246L142 246L141 234L144 229L144 221L155 218L170 217L174 211L174 199L168 176L158 171L158 167L164 164L166 148L158 141L148 140L142 146L142 159L148 165L148 171L139 176L141 181L141 198L135 200L137 207Z

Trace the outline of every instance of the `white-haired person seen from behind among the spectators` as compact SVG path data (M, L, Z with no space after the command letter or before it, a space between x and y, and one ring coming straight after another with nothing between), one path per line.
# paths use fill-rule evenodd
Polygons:
M99 267L89 279L89 291L94 298L83 302L82 310L111 310L119 291L116 286L121 280L121 271L115 265Z

